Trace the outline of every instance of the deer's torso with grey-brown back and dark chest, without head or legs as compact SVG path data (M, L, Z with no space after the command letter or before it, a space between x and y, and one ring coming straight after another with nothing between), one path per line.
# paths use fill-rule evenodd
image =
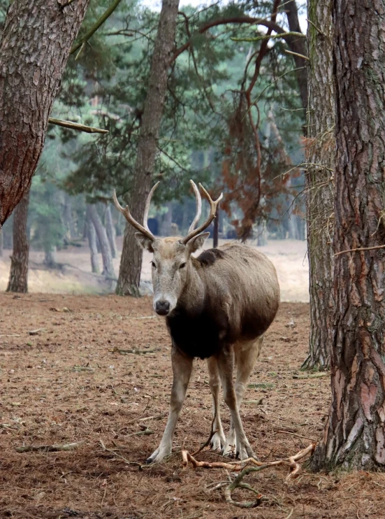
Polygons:
M278 304L273 264L254 248L228 243L191 257L184 290L166 321L177 348L205 359L261 336Z

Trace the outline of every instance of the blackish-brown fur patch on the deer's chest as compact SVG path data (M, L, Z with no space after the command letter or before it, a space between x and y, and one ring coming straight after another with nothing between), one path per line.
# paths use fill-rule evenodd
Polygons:
M189 315L183 308L175 308L166 318L168 330L177 348L190 357L207 359L223 347L226 319L210 311Z

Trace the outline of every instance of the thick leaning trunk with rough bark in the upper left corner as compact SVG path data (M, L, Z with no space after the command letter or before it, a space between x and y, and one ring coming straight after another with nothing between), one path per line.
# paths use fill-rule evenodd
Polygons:
M0 227L29 190L89 0L14 0L0 42Z

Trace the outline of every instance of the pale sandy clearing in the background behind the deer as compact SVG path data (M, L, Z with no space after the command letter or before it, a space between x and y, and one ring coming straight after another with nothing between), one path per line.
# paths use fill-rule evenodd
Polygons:
M228 240L221 240L224 243ZM253 243L251 243L253 245ZM212 247L208 240L206 248ZM119 254L114 260L115 273L119 272L122 237L117 238ZM281 286L282 301L309 300L309 269L306 258L306 243L299 240L270 240L265 247L259 247L277 269ZM6 290L10 269L10 250L4 250L0 257L0 290ZM81 247L70 246L59 250L56 255L57 269L43 266L44 253L32 250L30 253L28 285L29 292L53 294L106 294L111 292L111 283L103 276L91 272L89 248L86 242ZM151 279L151 255L143 255L142 280ZM99 255L99 262L101 257Z

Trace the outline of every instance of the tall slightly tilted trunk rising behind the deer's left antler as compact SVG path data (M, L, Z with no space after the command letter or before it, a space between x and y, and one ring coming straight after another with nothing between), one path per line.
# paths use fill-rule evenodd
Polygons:
M157 155L157 140L166 97L167 73L173 52L178 6L179 0L162 1L157 38L154 43L150 83L138 138L138 154L129 204L133 218L140 223L143 222L145 201L151 189ZM131 225L126 225L116 293L139 297L142 250L136 241L135 232Z

